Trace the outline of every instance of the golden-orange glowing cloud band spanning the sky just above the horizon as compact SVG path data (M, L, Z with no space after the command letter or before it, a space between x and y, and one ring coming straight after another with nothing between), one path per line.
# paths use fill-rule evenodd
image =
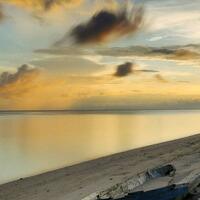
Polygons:
M136 65L132 70L135 68ZM38 69L34 68L36 73L31 69L30 66L20 67L17 72L9 73L21 75L20 78L11 76L9 80L12 81L0 86L0 110L142 109L156 108L157 105L168 108L166 101L179 105L180 99L192 101L199 91L199 85L195 83L158 84L155 80L150 82L149 77L133 82L110 76L55 75L45 70L38 76Z

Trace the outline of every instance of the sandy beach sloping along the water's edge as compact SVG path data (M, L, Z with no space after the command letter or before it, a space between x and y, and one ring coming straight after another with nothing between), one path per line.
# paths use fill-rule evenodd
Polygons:
M200 172L200 135L134 149L7 183L0 186L0 200L80 200L164 164L176 167L174 183L194 171Z

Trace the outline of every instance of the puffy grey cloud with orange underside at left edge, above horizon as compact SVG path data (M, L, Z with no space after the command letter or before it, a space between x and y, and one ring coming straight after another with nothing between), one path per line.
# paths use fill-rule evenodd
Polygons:
M0 87L29 79L39 73L39 69L32 68L29 65L22 65L15 73L3 72L0 75Z

